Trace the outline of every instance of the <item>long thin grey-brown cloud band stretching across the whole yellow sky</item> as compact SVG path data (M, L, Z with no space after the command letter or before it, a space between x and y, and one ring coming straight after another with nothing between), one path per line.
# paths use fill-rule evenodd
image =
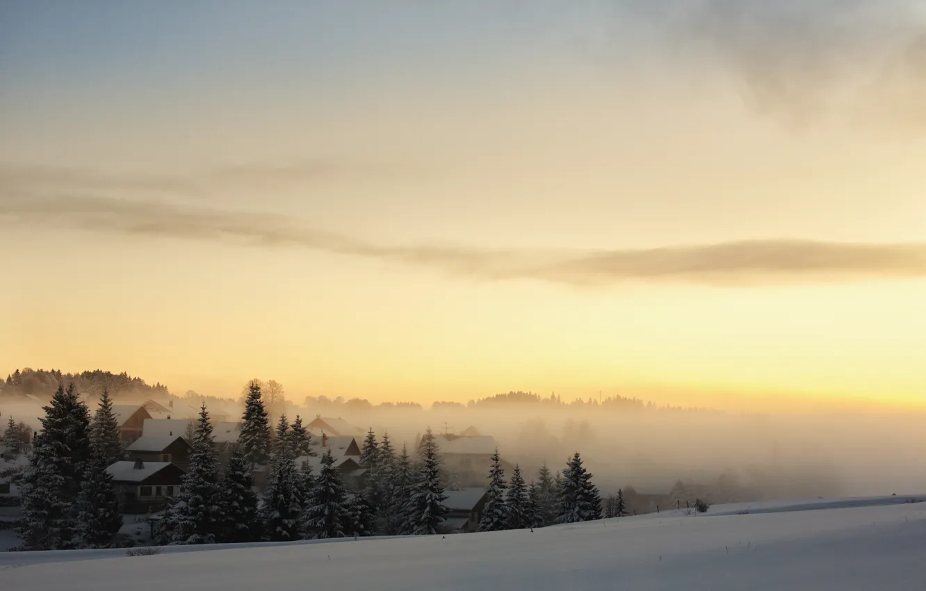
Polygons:
M576 286L628 281L729 285L926 277L926 243L764 240L600 251L380 245L312 229L276 214L86 196L0 195L0 219L4 218L7 223L51 223L92 232L300 247L482 280L525 279Z

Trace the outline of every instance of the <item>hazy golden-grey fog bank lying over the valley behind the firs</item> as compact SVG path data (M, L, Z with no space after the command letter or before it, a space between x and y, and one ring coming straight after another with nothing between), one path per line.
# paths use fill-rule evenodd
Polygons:
M191 397L176 400L198 406ZM129 402L125 396L116 401ZM93 409L94 398L87 402ZM320 415L341 418L362 432L388 432L398 449L412 449L428 428L437 434L474 428L492 435L502 458L519 463L529 476L544 462L559 469L579 451L603 495L628 486L668 495L678 481L715 502L926 492L926 415L920 413L735 414L620 404L628 408L609 408L607 401L598 406L490 399L421 409L307 398L301 405L286 403L285 410L290 419L300 414L308 422ZM231 398L206 405L232 421L242 409ZM0 397L4 424L13 417L38 428L40 413L34 401Z

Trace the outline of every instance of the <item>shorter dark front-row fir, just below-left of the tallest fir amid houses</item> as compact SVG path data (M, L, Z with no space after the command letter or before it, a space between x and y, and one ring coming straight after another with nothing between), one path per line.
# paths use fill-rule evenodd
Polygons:
M225 477L219 487L222 512L222 526L219 542L258 542L262 535L262 523L257 508L257 492L254 490L253 464L244 456L241 446L234 446L232 457L225 469Z

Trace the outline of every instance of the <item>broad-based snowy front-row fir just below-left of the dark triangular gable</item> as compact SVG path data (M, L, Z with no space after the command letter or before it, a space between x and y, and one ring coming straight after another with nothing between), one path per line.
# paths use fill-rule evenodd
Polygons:
M344 482L334 467L331 447L321 457L321 470L303 514L307 537L328 539L344 537L354 524L346 505Z

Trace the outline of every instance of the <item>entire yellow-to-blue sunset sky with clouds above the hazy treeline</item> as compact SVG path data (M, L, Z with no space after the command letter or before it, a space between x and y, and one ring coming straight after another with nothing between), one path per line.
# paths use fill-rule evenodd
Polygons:
M913 0L0 1L0 360L926 407Z

